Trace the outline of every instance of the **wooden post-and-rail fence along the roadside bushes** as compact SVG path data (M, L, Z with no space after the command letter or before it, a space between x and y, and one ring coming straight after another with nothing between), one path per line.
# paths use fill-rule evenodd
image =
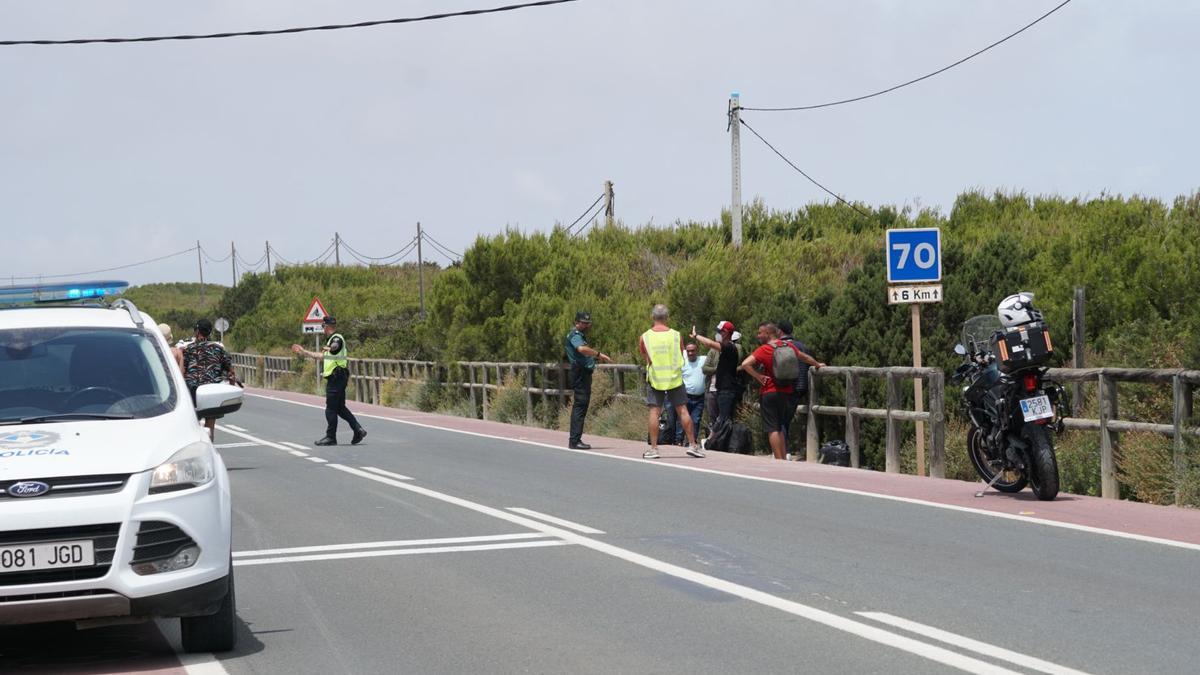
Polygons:
M277 387L284 376L295 376L301 363L289 357L257 354L233 354L234 368L244 381L266 388ZM493 417L492 408L497 392L502 387L518 387L526 399L526 423L534 423L535 406L552 404L566 406L571 396L570 369L565 364L496 363L496 362L433 362L395 359L350 359L350 383L353 399L360 402L382 405L388 382L425 383L440 381L445 386L466 389L472 410L480 411L484 419ZM617 396L641 399L644 395L646 371L631 364L599 364L596 377L612 377ZM851 466L860 462L859 430L864 419L883 420L887 424L884 470L900 472L900 446L902 425L925 422L930 425L930 476L946 476L946 378L935 368L859 368L826 366L809 370L809 396L797 412L808 418L805 459L817 461L821 444L821 417L845 420L846 444L850 446ZM904 384L913 378L926 383L928 412L904 407ZM1064 383L1094 382L1098 386L1098 419L1070 417L1063 420L1067 429L1097 431L1100 435L1100 489L1102 496L1116 498L1116 455L1121 432L1146 431L1174 438L1174 467L1182 472L1186 467L1186 438L1200 437L1195 426L1194 390L1200 387L1200 370L1147 370L1147 369L1051 369L1050 377ZM822 383L841 380L845 401L841 405L821 402ZM884 407L862 407L862 381L882 380L884 383ZM1170 423L1134 422L1120 419L1117 405L1118 383L1169 384L1174 402ZM1080 408L1075 408L1080 410ZM1176 490L1176 501L1180 495Z

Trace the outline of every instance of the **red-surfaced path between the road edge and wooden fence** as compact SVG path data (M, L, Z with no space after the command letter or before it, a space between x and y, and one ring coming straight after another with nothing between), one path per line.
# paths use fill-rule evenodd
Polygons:
M253 388L247 388L246 392L256 396L318 408L324 407L324 399L320 396ZM358 414L388 418L458 434L546 446L562 452L606 455L649 464L649 460L641 459L646 444L635 441L587 435L587 441L592 444L590 450L570 450L566 448L566 434L563 431L370 404L349 402L348 405ZM1200 510L1198 509L1069 494L1061 494L1052 502L1040 502L1027 490L1018 495L989 490L983 497L976 497L976 492L984 486L980 482L918 478L916 476L803 461L776 461L769 456L719 452L709 452L704 459L694 459L684 454L683 450L682 447L676 446L660 447L659 452L662 453L662 459L653 460L653 462L742 478L791 483L811 489L848 491L880 498L924 503L938 508L983 512L988 515L1076 530L1094 528L1135 539L1148 538L1162 540L1160 543L1174 543L1200 551Z

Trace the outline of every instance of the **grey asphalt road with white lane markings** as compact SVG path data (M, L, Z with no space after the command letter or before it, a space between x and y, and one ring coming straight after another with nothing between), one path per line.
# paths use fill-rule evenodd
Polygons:
M394 420L312 448L319 410L260 398L226 422L242 640L192 671L1182 673L1200 653L1194 550ZM170 631L10 629L0 670L167 668Z

